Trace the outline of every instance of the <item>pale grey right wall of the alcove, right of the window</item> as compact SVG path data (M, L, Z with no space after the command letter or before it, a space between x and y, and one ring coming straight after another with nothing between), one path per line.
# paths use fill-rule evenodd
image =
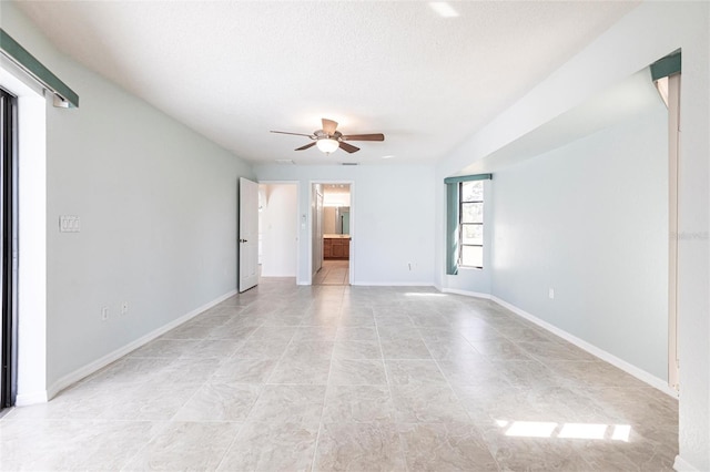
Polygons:
M668 112L495 174L493 295L667 379ZM555 298L548 298L548 290Z

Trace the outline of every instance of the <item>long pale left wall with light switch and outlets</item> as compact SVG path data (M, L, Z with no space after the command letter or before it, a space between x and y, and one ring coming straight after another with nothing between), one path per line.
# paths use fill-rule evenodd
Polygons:
M2 28L80 95L79 109L54 109L51 100L47 107L51 392L85 366L235 289L236 183L252 173L55 51L11 3L3 2ZM60 215L80 216L81 233L59 233ZM130 311L119 316L123 301Z

